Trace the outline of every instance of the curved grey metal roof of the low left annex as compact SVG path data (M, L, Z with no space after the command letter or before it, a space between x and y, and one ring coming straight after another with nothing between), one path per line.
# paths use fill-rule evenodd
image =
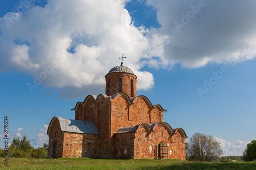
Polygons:
M59 121L60 129L62 132L73 132L73 133L82 133L82 134L86 133L86 134L97 134L97 135L99 134L98 129L93 122L73 120L73 119L67 119L62 117L53 117L47 130L48 135L53 123L56 120Z

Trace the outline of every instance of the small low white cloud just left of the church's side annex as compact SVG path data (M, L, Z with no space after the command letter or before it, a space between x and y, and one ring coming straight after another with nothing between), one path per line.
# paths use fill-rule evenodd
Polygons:
M49 137L47 135L47 129L49 125L44 125L44 129L40 129L40 133L35 135L35 139L31 140L31 144L35 147L42 147L44 143L48 144Z

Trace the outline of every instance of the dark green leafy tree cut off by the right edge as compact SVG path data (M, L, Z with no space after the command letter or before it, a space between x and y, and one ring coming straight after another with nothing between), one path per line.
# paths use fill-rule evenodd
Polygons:
M256 160L256 140L252 140L247 144L243 152L244 161L254 161Z

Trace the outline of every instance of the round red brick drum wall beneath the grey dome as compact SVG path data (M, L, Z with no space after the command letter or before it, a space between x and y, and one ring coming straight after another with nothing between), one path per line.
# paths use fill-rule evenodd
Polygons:
M133 98L137 96L137 87L136 82L137 78L133 74L124 73L124 72L111 72L105 76L106 80L106 95L115 95L118 92L118 79L122 79L122 92L126 93ZM133 91L134 95L131 95L131 80L133 80ZM109 83L110 81L110 83ZM110 92L108 94L108 91Z

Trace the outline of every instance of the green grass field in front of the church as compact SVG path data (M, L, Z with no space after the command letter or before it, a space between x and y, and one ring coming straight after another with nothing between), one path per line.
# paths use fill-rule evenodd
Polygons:
M1 169L256 169L256 162L207 163L158 159L9 158L8 166L3 162Z

